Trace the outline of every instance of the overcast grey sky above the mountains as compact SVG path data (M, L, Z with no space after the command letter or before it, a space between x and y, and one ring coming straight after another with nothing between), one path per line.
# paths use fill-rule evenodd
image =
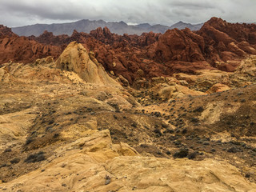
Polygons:
M0 0L0 24L106 22L200 23L211 17L228 22L256 22L256 0Z

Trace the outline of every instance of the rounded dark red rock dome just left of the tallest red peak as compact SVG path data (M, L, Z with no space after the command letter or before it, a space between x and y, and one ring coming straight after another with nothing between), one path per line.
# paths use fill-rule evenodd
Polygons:
M152 55L158 62L164 62L166 74L190 73L197 70L213 69L203 56L204 39L190 29L167 30L160 36ZM152 50L150 50L152 52ZM150 56L150 54L148 54Z

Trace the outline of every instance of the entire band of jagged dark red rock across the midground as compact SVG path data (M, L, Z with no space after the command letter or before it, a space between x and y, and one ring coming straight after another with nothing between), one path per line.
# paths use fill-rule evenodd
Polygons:
M167 30L165 34L118 35L108 28L86 34L74 30L71 36L45 31L39 37L18 37L0 26L0 63L14 60L33 62L36 58L58 57L73 41L82 43L106 71L122 75L130 84L138 78L195 73L218 68L234 71L241 58L256 54L256 25L231 24L211 18L201 30Z

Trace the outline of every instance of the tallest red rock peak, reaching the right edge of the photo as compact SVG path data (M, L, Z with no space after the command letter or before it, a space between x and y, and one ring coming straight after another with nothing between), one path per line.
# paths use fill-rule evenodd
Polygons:
M238 66L229 66L227 61L240 60L248 54L256 54L256 25L229 23L221 18L211 18L206 22L198 34L205 40L205 58L212 66L215 62L222 62L218 69L234 71Z

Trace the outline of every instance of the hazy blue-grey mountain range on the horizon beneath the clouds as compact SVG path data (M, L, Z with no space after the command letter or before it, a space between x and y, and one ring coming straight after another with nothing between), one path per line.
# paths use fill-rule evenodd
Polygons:
M78 32L90 33L91 30L95 30L98 27L107 27L114 34L142 34L144 32L153 31L154 33L165 33L166 30L178 28L179 30L185 29L186 27L190 30L199 30L202 24L192 25L190 23L178 22L173 26L162 26L162 25L150 25L149 23L142 23L136 26L129 26L125 22L105 22L103 20L90 21L88 19L82 19L78 22L68 23L54 23L54 24L35 24L31 26L19 26L13 27L12 30L19 36L39 36L45 30L53 32L54 35L59 34L73 34L74 30Z

